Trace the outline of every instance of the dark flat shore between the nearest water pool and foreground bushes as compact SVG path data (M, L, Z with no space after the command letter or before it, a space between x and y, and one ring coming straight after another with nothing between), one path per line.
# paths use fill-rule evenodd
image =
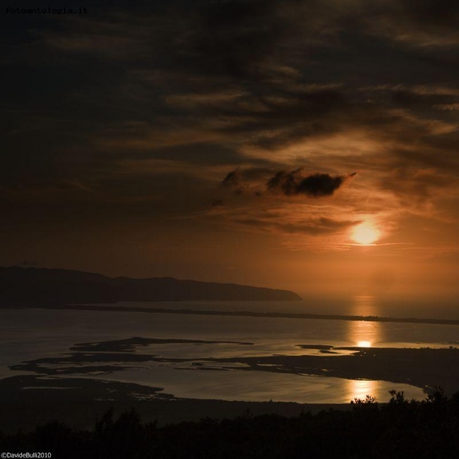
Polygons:
M110 408L114 409L115 415L134 408L144 422L157 421L162 426L203 418L234 418L248 412L251 415L295 417L302 412L314 415L323 410L350 410L352 407L350 403L175 398L167 394L162 396L159 391L161 388L97 379L11 376L0 379L0 431L32 431L38 425L54 419L75 429L93 429L95 421ZM133 393L139 398L133 397Z

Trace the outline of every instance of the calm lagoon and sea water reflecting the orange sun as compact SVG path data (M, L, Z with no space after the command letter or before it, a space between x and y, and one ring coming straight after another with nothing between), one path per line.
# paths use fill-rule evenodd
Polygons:
M381 314L373 299L365 295L357 297L347 310L337 309L333 302L328 304L328 309L325 306L314 308L308 302L155 302L119 305L146 309L388 316ZM397 311L400 316L400 309ZM445 318L445 314L446 318L457 318L453 316L454 308L448 311L443 311L442 318ZM429 315L423 309L422 314L401 316L439 318L441 314ZM70 347L81 342L132 337L232 341L225 344L155 343L136 347L137 353L155 354L164 359L162 362L131 363L127 368L124 365L122 371L109 374L97 371L94 364L95 371L90 374L79 374L76 369L71 376L162 387L164 393L184 398L300 403L349 403L355 397L364 398L366 394L386 401L389 398L388 391L393 388L405 391L409 398L424 398L424 393L420 388L390 381L244 371L244 365L237 364L227 371L221 371L218 359L319 352L301 349L297 345L449 347L459 341L459 326L451 325L59 309L0 309L0 333L0 378L23 374L22 371L8 369L8 366L32 359L61 357L71 352ZM241 345L237 342L254 344ZM346 352L350 351L340 351L341 354ZM209 357L215 359L213 365L205 363L208 371L199 371L198 366L203 365L200 359ZM340 358L340 354L333 358ZM174 362L169 359L191 361Z

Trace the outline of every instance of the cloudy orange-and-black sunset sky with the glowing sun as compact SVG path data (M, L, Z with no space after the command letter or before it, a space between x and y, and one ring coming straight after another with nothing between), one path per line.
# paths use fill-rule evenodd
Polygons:
M458 292L457 1L80 7L0 13L1 266Z

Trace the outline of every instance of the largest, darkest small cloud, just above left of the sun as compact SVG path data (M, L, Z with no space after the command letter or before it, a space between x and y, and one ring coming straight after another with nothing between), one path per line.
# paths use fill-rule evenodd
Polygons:
M285 196L296 196L305 194L314 198L331 196L342 184L354 177L357 172L347 175L312 174L302 176L303 169L295 169L291 172L280 171L266 184L268 190L281 192Z

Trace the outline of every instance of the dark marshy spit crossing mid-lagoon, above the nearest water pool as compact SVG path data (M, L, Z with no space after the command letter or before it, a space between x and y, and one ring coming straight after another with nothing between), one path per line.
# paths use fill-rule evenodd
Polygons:
M458 390L459 349L410 347L333 347L330 345L297 345L304 350L314 348L318 354L255 355L236 357L165 357L160 347L167 344L215 344L219 341L171 340L133 337L102 342L80 342L69 353L57 357L42 357L9 366L13 371L27 371L48 378L80 374L90 376L95 371L112 374L136 369L155 362L160 365L191 364L193 371L265 371L268 373L306 374L309 376L345 379L368 379L389 383L407 383L422 390L441 386L446 392ZM220 341L220 343L225 341ZM227 342L227 341L226 341ZM251 342L233 342L251 346ZM153 346L148 352L138 349ZM337 355L340 350L350 354ZM150 353L152 352L152 353ZM332 354L332 355L330 355ZM237 369L234 369L237 364ZM241 365L241 366L239 366Z

